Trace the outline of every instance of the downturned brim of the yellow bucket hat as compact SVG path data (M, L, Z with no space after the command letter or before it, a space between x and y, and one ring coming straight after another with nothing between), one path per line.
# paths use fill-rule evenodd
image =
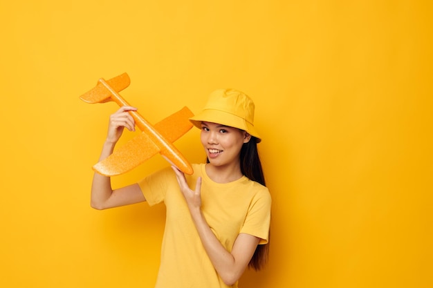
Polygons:
M234 127L248 132L250 135L257 138L257 143L261 142L259 133L250 122L245 119L216 109L205 109L198 115L190 118L190 122L201 129L201 122L218 123L229 127Z

